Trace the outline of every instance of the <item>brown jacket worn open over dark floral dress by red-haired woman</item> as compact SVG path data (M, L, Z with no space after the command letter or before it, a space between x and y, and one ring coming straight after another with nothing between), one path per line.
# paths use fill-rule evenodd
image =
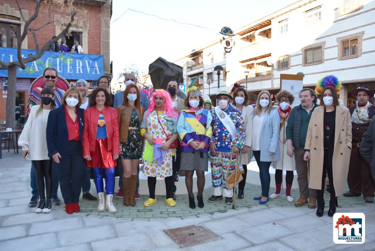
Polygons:
M120 105L117 107L118 112L118 126L120 128L120 142L128 142L128 133L129 133L129 122L131 118L131 112L135 109L139 117L139 130L141 130L141 123L145 109L141 106L140 109L134 107L127 107Z

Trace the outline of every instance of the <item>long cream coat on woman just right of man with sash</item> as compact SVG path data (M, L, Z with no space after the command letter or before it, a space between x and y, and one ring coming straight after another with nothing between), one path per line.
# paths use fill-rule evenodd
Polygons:
M251 160L251 139L252 139L252 130L253 130L253 116L254 116L254 109L247 105L242 108L242 117L245 123L245 146L249 146L249 151L247 154L241 154L239 163L241 165L247 165L250 163Z

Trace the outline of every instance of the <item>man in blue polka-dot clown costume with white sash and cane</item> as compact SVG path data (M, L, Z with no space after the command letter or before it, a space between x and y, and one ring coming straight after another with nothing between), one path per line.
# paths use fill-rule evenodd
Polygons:
M208 202L222 200L224 195L225 204L230 205L233 203L233 189L225 188L225 176L229 177L235 171L237 155L244 147L244 120L240 110L229 103L232 96L228 92L220 92L216 95L216 99L219 106L210 111L213 121L213 132L209 145L213 195L208 199ZM222 192L222 187L224 192Z

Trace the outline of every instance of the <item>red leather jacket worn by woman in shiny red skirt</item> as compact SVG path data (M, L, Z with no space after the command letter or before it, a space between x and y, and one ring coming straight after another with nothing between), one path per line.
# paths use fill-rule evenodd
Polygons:
M106 130L108 137L108 151L112 154L120 154L120 139L118 132L117 110L106 106L102 110L106 120ZM99 119L99 110L96 106L90 107L84 111L85 130L83 132L83 156L91 155L95 151L96 132Z

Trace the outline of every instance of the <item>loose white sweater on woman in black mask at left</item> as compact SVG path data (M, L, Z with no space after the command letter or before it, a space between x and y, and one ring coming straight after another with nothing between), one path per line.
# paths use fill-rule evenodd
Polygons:
M36 117L39 105L31 108L29 119L19 136L18 145L22 151L30 151L27 160L49 159L47 150L46 128L51 110L43 109Z

